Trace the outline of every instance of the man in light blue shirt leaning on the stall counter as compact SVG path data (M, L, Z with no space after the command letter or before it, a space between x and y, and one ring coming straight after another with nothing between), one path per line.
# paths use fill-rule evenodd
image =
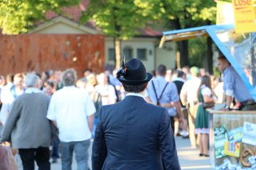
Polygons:
M223 72L223 90L226 95L225 107L220 108L220 110L229 111L234 97L241 103L239 110L256 111L255 101L250 96L238 72L230 65L230 62L228 62L224 55L218 57L218 70Z

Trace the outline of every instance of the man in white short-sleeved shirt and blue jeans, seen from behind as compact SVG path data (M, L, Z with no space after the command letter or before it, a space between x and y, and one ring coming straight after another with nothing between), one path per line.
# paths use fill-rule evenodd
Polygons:
M75 87L77 74L67 69L62 74L63 89L50 99L47 118L58 127L62 169L71 169L73 152L78 169L88 169L88 148L92 137L95 106L90 96Z

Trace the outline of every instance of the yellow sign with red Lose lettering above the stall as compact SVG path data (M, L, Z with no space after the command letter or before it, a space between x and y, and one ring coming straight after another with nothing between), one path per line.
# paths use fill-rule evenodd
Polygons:
M235 13L235 32L250 33L256 31L253 0L232 0Z

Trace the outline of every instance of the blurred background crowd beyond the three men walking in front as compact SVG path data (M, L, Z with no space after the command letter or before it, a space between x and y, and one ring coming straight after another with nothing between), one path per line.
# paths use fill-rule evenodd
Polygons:
M62 80L63 72L64 70L55 69L41 72L41 74L36 72L22 72L8 74L6 77L0 76L1 129L6 125L12 103L27 89L24 82L28 74L37 75L40 78L38 89L48 96L53 96L56 91L63 89L65 86ZM117 69L112 71L106 70L100 74L92 72L90 69L85 69L82 72L83 77L80 77L75 82L75 86L86 91L95 105L92 138L94 137L97 113L100 111L100 107L117 103L125 97L124 88L121 82L116 79L116 73ZM208 134L208 128L201 128L199 125L201 121L196 120L198 103L201 102L198 100L198 89L208 84L208 91L203 94L212 98L211 101L214 103L223 103L225 101L225 95L223 93L223 82L221 79L210 75L203 68L183 67L182 69L166 69L163 64L151 73L154 75L154 78L149 82L148 89L146 90L146 101L168 108L174 135L190 138L191 147L196 147L200 143L206 143L208 138L207 136L204 137L203 134ZM205 82L204 79L207 79L209 82L201 84L201 82ZM155 84L154 86L156 86L155 90L151 86L153 82ZM166 85L166 89L164 85ZM193 106L197 107L193 108ZM202 129L203 132L201 131ZM203 137L198 142L196 142L197 134L202 134L201 137ZM52 163L57 162L60 157L59 143L60 140L56 139L51 144ZM14 154L16 152L14 151ZM208 156L208 151L202 150L201 154Z

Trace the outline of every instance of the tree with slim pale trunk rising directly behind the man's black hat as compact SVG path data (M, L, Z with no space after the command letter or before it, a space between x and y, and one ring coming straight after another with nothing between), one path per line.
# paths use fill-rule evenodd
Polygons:
M85 23L90 19L105 35L114 38L116 68L121 64L121 41L139 34L136 28L144 28L148 21L143 8L136 6L134 0L90 1L80 20Z

